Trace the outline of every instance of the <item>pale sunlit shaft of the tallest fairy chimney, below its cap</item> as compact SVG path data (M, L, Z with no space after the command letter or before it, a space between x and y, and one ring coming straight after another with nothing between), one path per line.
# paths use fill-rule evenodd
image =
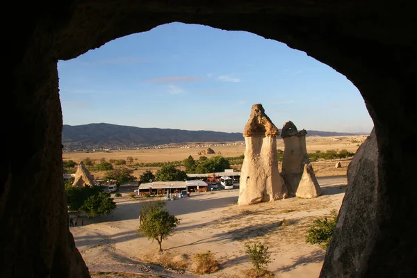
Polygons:
M284 180L278 170L277 138L245 137L245 142L238 204L270 202L286 197Z

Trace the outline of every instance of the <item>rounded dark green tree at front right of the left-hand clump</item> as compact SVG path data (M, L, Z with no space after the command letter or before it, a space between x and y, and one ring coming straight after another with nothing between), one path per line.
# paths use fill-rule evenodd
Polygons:
M100 192L85 200L80 211L89 218L96 215L108 215L116 208L116 203L110 197L110 193Z

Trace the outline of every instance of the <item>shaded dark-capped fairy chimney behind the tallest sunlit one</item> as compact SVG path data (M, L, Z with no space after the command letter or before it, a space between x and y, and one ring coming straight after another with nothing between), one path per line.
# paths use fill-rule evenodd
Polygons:
M307 131L297 131L293 122L284 124L281 138L284 139L284 157L282 158L281 175L284 178L289 196L295 196L298 183L304 172L304 165L310 163L306 148ZM312 173L314 175L314 173Z

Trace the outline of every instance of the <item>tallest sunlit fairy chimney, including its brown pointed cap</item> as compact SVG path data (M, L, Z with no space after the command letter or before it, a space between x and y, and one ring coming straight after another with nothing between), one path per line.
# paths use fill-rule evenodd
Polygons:
M238 204L271 202L286 197L284 180L278 170L277 136L279 131L265 115L262 105L254 104L243 131L246 149L240 170Z

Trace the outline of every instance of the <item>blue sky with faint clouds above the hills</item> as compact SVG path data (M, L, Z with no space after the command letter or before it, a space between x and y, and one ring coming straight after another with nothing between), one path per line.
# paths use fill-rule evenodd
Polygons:
M252 104L281 128L370 132L359 90L331 67L252 33L172 23L58 62L64 124L242 132Z

